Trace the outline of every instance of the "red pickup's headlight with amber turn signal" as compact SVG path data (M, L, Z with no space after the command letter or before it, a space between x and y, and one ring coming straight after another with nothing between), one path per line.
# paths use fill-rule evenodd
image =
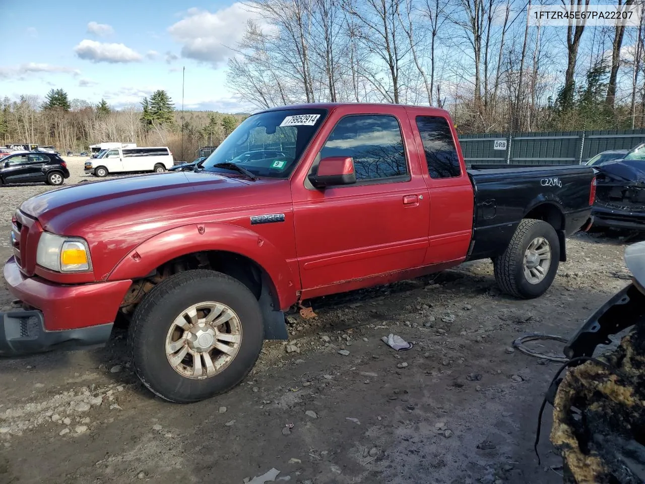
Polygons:
M90 250L86 241L43 232L38 241L36 263L56 272L90 270Z

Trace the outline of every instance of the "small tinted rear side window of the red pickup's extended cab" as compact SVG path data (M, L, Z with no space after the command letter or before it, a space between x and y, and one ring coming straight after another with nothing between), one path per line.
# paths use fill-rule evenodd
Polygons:
M432 179L461 176L461 163L448 120L442 116L415 117Z

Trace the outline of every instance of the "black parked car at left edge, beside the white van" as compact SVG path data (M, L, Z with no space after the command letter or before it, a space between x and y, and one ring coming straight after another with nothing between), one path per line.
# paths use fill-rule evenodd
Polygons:
M37 183L63 185L70 177L67 164L54 153L15 152L0 158L0 185Z

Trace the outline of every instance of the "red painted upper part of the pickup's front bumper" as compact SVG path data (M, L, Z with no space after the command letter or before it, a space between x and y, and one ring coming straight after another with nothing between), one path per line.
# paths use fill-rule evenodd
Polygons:
M62 285L41 277L26 277L14 257L5 264L9 292L22 301L23 308L43 315L45 331L76 330L112 324L130 280Z

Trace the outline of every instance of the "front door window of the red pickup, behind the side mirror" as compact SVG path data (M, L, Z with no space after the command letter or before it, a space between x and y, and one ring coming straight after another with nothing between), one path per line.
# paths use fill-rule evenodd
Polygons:
M320 152L320 159L352 157L356 183L409 179L401 126L385 114L352 114L343 117Z

